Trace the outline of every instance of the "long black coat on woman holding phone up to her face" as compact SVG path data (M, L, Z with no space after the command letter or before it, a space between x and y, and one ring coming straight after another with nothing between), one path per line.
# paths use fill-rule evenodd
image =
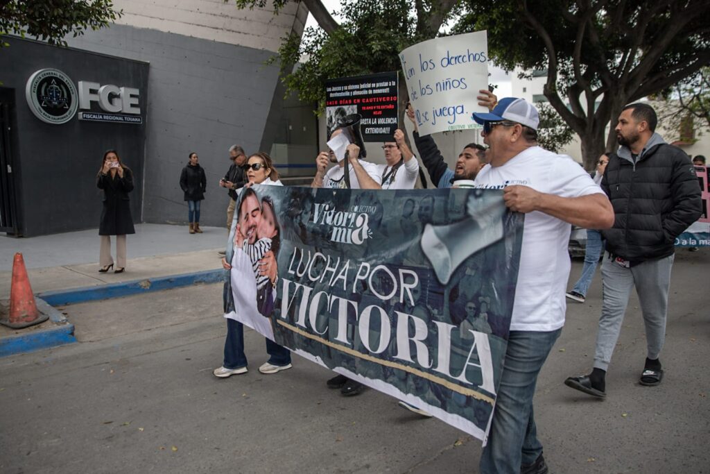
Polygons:
M96 185L104 190L104 210L101 212L99 235L135 234L131 218L131 201L129 193L133 190L133 173L124 168L124 177L119 173L111 178L111 172L99 173Z

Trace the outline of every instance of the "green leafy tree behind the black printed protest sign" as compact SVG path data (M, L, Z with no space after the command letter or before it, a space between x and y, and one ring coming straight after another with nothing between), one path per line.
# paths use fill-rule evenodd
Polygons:
M275 13L288 1L273 0ZM236 0L239 8L263 7L267 3L268 0ZM280 62L287 91L298 92L304 102L317 102L322 111L325 80L400 71L400 51L437 36L459 0L343 0L342 24L334 21L320 0L304 3L321 29L307 28L302 36L285 38L278 57L272 60ZM305 61L299 64L304 57ZM408 92L401 75L399 97L399 120L404 124Z

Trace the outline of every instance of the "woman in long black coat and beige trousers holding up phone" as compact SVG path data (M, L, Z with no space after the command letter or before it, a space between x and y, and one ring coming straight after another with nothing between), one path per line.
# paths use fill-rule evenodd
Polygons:
M99 235L101 236L101 273L106 273L114 266L111 257L111 235L116 236L116 270L123 273L126 269L126 234L135 234L131 218L129 193L133 190L133 173L121 163L116 150L104 153L104 163L96 178L96 185L104 190L104 210L101 212Z

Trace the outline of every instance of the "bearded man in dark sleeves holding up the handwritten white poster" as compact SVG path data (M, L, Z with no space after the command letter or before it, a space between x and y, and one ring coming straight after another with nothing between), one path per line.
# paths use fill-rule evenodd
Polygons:
M480 90L479 105L492 109L497 104L496 95L488 90ZM454 169L449 168L444 156L431 135L420 136L414 109L407 106L407 117L414 126L414 143L422 158L422 163L429 172L429 178L437 188L451 188L454 181L474 180L481 168L486 166L486 147L471 143L459 153ZM484 139L485 143L485 139Z

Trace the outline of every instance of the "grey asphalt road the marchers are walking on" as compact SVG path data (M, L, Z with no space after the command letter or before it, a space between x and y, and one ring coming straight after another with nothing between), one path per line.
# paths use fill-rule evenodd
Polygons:
M659 387L642 387L645 338L630 301L607 398L562 381L591 367L599 274L537 385L535 416L552 473L710 472L710 250L680 250ZM572 280L581 270L575 262ZM330 372L295 357L261 375L215 379L225 325L219 285L69 306L80 343L0 359L2 473L475 473L480 442L368 390L345 398Z

